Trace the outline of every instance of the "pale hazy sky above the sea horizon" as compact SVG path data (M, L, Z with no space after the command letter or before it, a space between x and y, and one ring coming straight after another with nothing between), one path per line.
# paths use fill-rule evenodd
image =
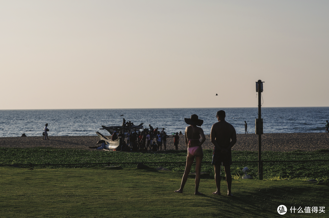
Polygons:
M329 106L328 9L0 1L0 109Z

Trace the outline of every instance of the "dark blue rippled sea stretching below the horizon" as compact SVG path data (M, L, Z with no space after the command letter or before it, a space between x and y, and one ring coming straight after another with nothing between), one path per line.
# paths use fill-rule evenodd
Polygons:
M165 108L165 109L69 109L69 110L0 110L0 137L40 136L48 123L49 136L96 136L101 125L121 125L122 118L135 125L151 124L165 128L167 134L182 131L187 124L184 118L197 114L204 120L202 128L210 134L217 121L217 110L226 112L226 121L237 133L244 133L244 121L248 132L255 133L258 108ZM120 116L124 115L124 116ZM263 107L264 133L325 132L329 120L329 107Z

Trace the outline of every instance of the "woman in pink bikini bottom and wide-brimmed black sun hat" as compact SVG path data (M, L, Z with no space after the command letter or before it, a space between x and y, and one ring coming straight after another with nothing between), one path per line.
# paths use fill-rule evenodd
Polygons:
M199 195L202 194L199 192L199 183L200 183L200 171L201 171L201 163L203 158L203 151L202 151L202 143L206 141L205 134L203 133L203 130L201 126L203 123L203 120L199 120L198 116L196 114L192 114L191 118L185 118L185 122L189 124L190 126L187 126L185 129L185 143L188 147L187 150L187 157L186 157L186 166L185 166L185 172L183 175L182 183L180 189L178 189L175 192L183 193L183 188L186 183L187 177L190 173L192 163L195 158L195 192L194 194ZM200 140L201 136L201 142Z

